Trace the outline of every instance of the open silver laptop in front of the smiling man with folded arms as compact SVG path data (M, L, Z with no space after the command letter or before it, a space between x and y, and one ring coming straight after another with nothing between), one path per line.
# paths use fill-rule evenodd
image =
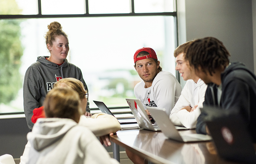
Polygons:
M181 135L165 113L164 108L147 107L147 109L149 110L151 116L155 119L157 125L161 128L161 131L169 139L180 142L208 141L212 139L211 136L204 134Z

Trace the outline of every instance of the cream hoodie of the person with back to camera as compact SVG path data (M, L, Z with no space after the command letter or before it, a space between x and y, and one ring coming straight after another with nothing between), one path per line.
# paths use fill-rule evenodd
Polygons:
M117 164L86 127L68 118L38 118L20 163ZM26 149L26 148L25 148Z

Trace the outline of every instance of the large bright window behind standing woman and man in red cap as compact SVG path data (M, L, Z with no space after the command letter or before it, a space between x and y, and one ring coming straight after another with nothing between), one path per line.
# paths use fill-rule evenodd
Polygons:
M89 89L91 108L96 108L92 100L103 101L109 107L121 107L127 106L125 98L135 98L133 88L141 79L133 67L133 54L141 47L153 48L163 70L175 75L173 51L177 42L177 25L172 0L124 0L123 3L118 0L76 0L72 3L67 1L68 5L64 6L49 0L51 7L45 6L46 1L48 2L42 1L39 11L31 10L41 2L33 0L13 0L12 3L18 6L16 10L10 10L9 13L0 10L0 24L6 25L6 29L10 28L8 25L16 25L17 34L14 34L19 39L17 41L16 37L15 43L21 45L16 46L16 49L20 48L17 50L20 52L19 58L16 61L13 57L9 59L19 63L15 65L19 75L10 76L20 76L20 84L17 78L12 97L8 101L2 101L6 94L4 86L8 80L0 81L1 113L23 111L24 75L37 56L50 55L44 34L52 21L60 22L63 31L68 34L68 61L82 70ZM26 3L31 6L28 8ZM71 7L72 5L79 7ZM54 6L65 10L53 11ZM19 11L20 8L22 10ZM15 47L12 49L15 50ZM3 54L12 55L10 50L3 53L0 51L0 58ZM1 64L0 61L0 70L8 65L10 63L4 61ZM10 78L6 75L3 77L2 74L0 71L0 78Z

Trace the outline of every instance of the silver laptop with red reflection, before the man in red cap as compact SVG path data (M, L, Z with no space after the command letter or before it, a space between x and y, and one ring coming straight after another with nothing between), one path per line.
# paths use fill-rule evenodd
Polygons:
M140 128L151 130L151 131L160 131L161 129L158 126L153 126L148 115L143 107L143 104L138 99L128 99L126 101L139 124Z

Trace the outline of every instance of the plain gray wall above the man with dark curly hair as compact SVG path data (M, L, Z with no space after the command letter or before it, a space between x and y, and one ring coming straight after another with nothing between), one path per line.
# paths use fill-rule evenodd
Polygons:
M243 62L254 72L252 1L185 0L185 2L187 41L207 36L216 37L227 47L231 61Z

